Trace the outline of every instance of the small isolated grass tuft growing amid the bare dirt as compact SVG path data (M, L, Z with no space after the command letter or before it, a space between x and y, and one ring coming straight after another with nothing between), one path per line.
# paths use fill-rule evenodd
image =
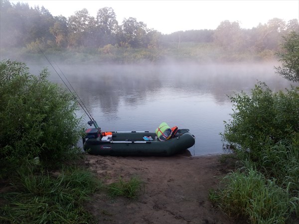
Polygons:
M110 184L108 193L111 197L124 196L136 200L141 190L142 181L137 177L132 177L129 181L120 178L118 182Z

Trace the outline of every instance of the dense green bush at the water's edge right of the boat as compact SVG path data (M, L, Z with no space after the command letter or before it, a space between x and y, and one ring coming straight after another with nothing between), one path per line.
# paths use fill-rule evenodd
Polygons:
M251 96L244 92L230 97L233 118L225 121L222 141L242 159L262 163L263 153L299 133L299 88L273 93L259 83Z

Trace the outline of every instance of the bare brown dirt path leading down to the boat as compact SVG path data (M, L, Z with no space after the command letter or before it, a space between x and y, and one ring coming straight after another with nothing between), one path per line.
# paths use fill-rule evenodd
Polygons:
M94 195L88 209L107 224L234 224L208 200L229 167L219 156L111 157L86 155L85 163L106 183L138 176L145 183L137 201Z

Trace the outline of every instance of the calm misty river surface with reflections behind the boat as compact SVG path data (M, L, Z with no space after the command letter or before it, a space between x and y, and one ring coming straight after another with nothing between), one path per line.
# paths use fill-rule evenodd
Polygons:
M249 93L257 80L273 91L289 87L274 65L59 67L103 131L154 131L165 121L189 128L196 137L189 151L201 155L223 152L219 133L232 112L227 95ZM51 80L61 82L49 70Z

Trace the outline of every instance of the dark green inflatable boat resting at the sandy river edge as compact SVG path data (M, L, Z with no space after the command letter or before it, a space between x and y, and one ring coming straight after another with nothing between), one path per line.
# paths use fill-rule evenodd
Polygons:
M99 133L96 128L89 128L85 132L83 148L92 155L171 156L195 143L195 136L189 129L177 129L164 141L159 134L149 131Z

